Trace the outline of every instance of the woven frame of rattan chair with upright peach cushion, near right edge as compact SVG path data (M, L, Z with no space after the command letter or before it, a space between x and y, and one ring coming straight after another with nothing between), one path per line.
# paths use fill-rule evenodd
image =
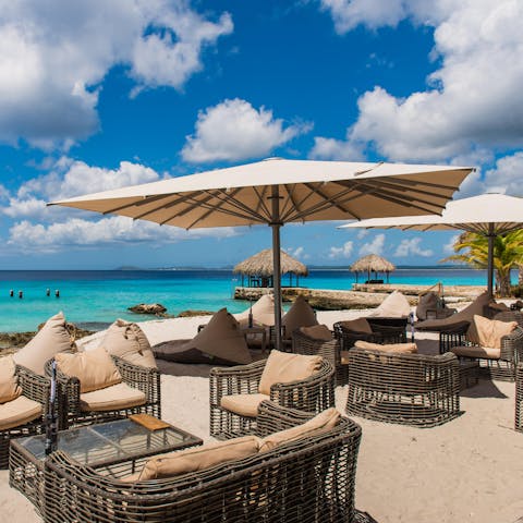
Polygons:
M486 377L500 381L514 381L515 365L523 362L523 320L519 312L508 311L498 313L494 319L499 321L518 321L520 325L514 331L501 338L501 353L497 357L474 357L460 355L461 361L474 361L479 363L479 370ZM479 346L467 339L469 323L462 323L452 330L439 333L439 352L443 354L457 346Z

